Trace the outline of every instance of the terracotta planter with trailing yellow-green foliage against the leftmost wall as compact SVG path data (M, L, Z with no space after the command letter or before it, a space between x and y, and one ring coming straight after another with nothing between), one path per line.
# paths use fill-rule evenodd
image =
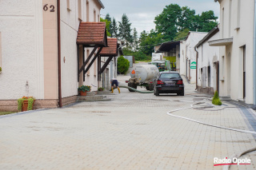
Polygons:
M18 99L18 111L24 112L27 110L33 110L34 107L34 97L22 97Z

